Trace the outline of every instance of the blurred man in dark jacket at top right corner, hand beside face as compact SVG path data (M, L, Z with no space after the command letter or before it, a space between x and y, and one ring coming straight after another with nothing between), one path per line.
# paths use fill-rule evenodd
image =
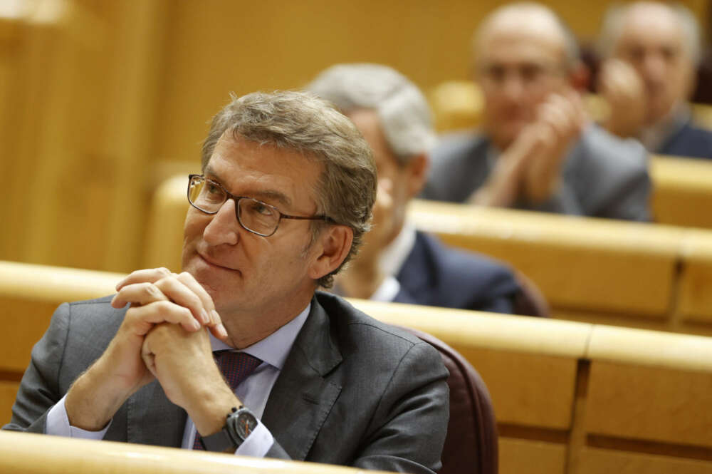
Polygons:
M701 58L700 29L681 5L639 1L604 18L599 89L604 126L651 153L712 158L712 132L693 125L687 103Z

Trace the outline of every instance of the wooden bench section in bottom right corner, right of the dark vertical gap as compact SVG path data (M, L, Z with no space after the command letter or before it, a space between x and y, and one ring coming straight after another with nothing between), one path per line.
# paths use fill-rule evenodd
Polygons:
M594 326L581 412L583 473L712 470L712 339Z

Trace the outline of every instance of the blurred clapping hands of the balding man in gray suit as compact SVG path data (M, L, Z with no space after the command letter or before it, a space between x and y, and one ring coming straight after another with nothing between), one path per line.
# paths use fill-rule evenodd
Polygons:
M509 207L518 201L537 205L553 197L560 187L567 150L587 123L577 91L550 94L538 106L533 122L503 150L471 202Z

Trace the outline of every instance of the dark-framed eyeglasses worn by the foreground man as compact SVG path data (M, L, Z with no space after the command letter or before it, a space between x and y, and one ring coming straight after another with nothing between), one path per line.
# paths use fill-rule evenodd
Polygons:
M251 197L232 195L219 182L209 180L202 175L188 175L188 178L188 202L193 207L206 214L217 214L227 200L234 200L237 222L244 230L262 237L269 237L277 232L277 227L282 219L333 222L331 217L325 215L286 215L266 202Z

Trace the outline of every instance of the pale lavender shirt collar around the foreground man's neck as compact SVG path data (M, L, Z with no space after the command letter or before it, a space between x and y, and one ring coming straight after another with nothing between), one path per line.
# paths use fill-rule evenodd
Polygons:
M257 357L264 363L276 367L278 370L282 370L284 361L286 361L289 351L292 349L294 341L297 339L299 331L302 329L302 326L307 320L310 310L311 303L309 303L307 307L297 315L297 317L274 331L265 339L257 341L255 344L247 346L244 349L240 349L239 352L246 352L251 356ZM228 346L223 341L220 341L212 334L209 334L209 336L210 346L213 352L234 350L234 348Z

